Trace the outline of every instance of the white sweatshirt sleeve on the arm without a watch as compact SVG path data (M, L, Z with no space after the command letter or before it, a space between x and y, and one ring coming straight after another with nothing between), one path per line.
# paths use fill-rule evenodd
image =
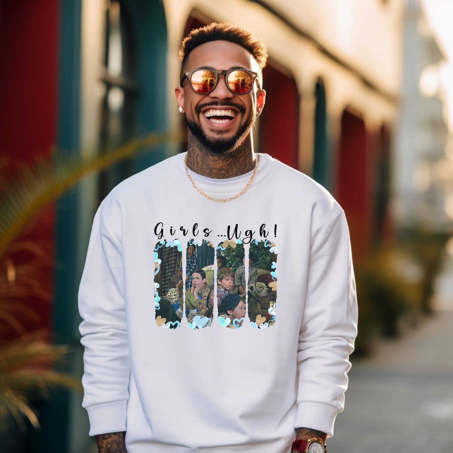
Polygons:
M93 221L79 288L84 375L82 406L90 435L126 429L130 376L121 243L102 212Z

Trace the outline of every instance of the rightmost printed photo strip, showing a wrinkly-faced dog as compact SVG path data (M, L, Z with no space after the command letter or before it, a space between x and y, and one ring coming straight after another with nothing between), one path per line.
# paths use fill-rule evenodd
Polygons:
M247 304L253 328L264 329L275 324L276 300L277 247L267 239L252 239L249 249Z

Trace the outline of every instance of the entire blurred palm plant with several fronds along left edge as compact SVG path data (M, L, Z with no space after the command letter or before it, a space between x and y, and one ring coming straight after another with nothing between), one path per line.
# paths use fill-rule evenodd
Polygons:
M20 316L36 319L34 310L24 303L30 295L48 302L51 299L39 282L40 267L51 263L46 264L39 245L20 240L19 235L48 205L89 173L170 141L179 141L179 135L153 133L106 152L56 150L50 157L24 166L6 183L7 178L0 172L0 335L2 324L19 335L10 341L0 336L0 429L8 429L11 420L25 429L25 419L36 428L39 421L31 400L48 396L54 387L82 389L79 379L53 369L63 363L68 347L49 344L42 332L28 333L19 321ZM2 164L5 167L4 161ZM14 253L24 250L30 258L16 263Z

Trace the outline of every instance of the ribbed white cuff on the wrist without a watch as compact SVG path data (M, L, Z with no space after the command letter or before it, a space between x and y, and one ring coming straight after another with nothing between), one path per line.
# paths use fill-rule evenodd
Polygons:
M127 400L110 401L85 408L90 419L90 436L126 430Z

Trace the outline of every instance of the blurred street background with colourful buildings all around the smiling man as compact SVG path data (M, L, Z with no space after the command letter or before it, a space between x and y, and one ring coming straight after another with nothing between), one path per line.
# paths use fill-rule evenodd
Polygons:
M330 453L453 451L453 1L0 0L0 451L95 452L77 290L116 184L186 150L190 30L268 46L255 149L344 208L359 336Z

